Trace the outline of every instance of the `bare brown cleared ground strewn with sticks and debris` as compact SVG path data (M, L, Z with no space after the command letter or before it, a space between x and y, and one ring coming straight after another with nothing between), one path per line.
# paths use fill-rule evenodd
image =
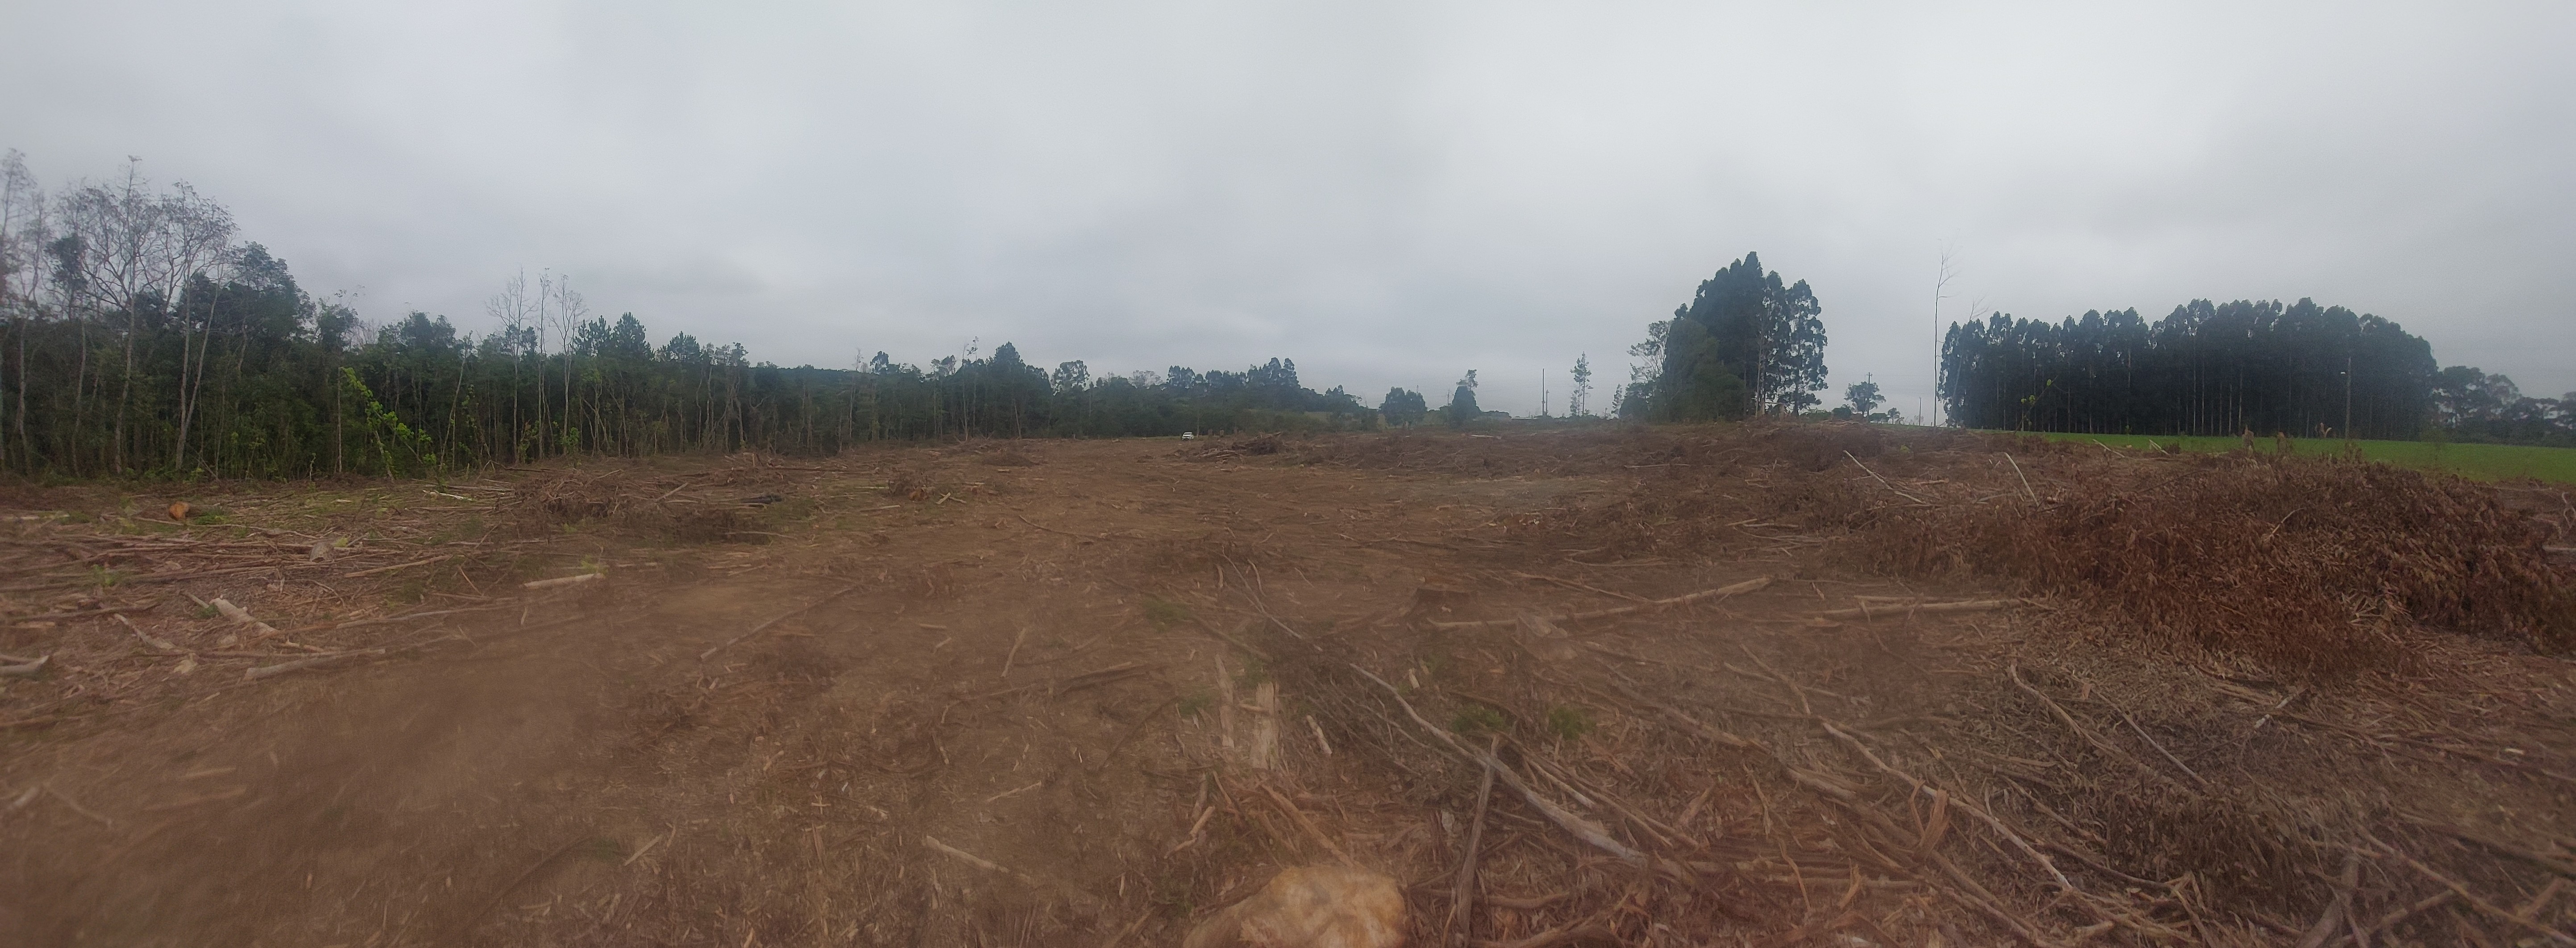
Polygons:
M0 943L1172 945L1345 860L1406 884L1417 945L2571 943L2568 662L2383 621L2396 665L2282 670L1873 567L1814 500L2048 510L2076 464L2184 464L2002 451L1059 441L15 489L0 665L46 667L0 678ZM2545 559L2576 510L2527 495L2496 515Z

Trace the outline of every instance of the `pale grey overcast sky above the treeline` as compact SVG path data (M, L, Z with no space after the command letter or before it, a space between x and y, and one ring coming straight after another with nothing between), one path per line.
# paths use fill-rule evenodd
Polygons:
M569 273L659 343L1100 371L1296 358L1368 404L1808 281L1834 399L1945 317L2344 304L2576 389L2576 5L0 0L0 147L126 155L309 291L489 330ZM1829 402L1832 404L1832 402Z

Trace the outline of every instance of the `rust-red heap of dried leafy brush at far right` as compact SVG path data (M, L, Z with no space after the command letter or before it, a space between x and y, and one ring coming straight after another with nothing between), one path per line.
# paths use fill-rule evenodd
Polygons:
M2027 469L2022 497L1989 502L1958 479L1862 484L1844 500L1842 549L1896 574L2012 582L2298 672L2396 667L2416 623L2576 647L2576 598L2548 562L2548 531L2494 489L2380 464L2063 446L2030 453Z

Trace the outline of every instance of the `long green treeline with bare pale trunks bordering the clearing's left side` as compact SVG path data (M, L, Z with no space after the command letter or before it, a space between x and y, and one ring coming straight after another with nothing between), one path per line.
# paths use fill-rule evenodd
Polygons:
M853 368L755 363L685 332L652 345L641 319L592 314L559 276L502 281L484 335L425 312L368 327L185 185L152 188L129 167L46 196L15 152L5 185L0 471L422 474L585 451L1378 422L1342 389L1303 386L1285 358L1095 379L1007 343Z

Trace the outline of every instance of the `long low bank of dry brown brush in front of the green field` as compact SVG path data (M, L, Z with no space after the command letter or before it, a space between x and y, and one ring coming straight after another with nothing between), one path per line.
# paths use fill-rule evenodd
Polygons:
M1710 433L1674 456L1708 461L1520 533L1592 556L1811 549L1891 577L2002 582L2102 629L2298 675L2396 667L2419 626L2576 647L2553 526L2450 477L1824 425Z

